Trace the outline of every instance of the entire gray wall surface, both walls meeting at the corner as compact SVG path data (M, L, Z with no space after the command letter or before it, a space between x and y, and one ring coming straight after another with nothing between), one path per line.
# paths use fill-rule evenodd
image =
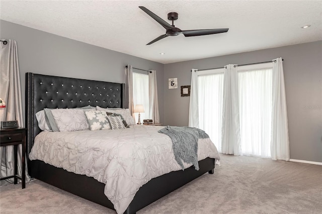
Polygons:
M180 86L190 85L191 68L282 57L291 159L322 162L322 41L163 65L3 20L0 32L18 43L23 96L26 72L125 82L124 66L131 64L157 71L160 121L173 126L188 125L189 97L180 96ZM172 77L178 89L168 89Z

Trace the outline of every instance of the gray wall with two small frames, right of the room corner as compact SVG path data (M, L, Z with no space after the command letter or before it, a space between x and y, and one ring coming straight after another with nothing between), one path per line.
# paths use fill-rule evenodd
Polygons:
M290 158L322 162L322 41L271 48L165 65L165 124L187 126L189 97L180 86L191 84L192 68L247 64L284 59ZM168 89L168 78L178 77L178 89Z

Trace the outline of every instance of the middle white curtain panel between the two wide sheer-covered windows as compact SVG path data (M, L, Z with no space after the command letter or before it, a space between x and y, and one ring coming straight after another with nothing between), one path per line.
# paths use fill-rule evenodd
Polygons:
M229 64L223 77L222 153L240 155L239 129L237 68Z

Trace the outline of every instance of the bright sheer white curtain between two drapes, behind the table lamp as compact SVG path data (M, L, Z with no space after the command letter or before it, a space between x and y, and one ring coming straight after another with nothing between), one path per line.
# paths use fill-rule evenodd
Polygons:
M141 123L149 117L149 78L147 74L133 72L133 105L142 104L144 113L140 113ZM135 113L138 121L138 113Z

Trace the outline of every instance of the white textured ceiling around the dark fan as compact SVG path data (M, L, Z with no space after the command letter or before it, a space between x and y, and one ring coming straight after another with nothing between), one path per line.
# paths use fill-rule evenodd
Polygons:
M229 31L145 45L165 29L138 6L166 21L179 13L182 30ZM164 64L322 40L322 1L2 0L0 7L2 20Z

